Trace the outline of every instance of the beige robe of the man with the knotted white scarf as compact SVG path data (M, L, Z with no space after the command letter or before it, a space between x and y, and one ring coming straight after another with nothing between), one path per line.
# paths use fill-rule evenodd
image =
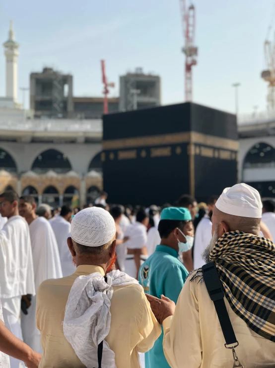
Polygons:
M64 336L62 322L74 280L93 272L104 275L99 266L81 265L70 276L47 280L40 285L36 321L44 353L39 368L84 368ZM153 347L161 329L140 285L114 286L113 289L111 327L105 340L115 352L117 368L139 368L138 353Z

